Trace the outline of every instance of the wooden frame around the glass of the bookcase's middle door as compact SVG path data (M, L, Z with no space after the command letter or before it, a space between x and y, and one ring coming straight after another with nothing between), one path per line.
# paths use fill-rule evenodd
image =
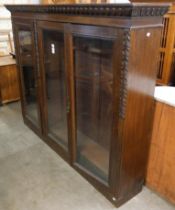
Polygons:
M40 75L41 75L41 86L42 86L42 113L43 113L43 136L44 141L49 144L53 150L55 150L63 159L67 162L70 162L70 129L69 129L69 112L67 112L67 129L68 129L68 150L64 149L64 147L56 142L51 136L49 136L48 131L48 106L46 100L46 79L45 79L45 65L44 65L44 45L43 45L43 31L57 31L63 33L64 36L64 24L59 22L52 21L37 21L37 35L38 35L38 49L39 49L39 63L40 63ZM65 42L64 42L64 45ZM69 106L69 93L68 93L68 80L67 80L67 72L66 72L66 63L65 63L65 75L66 75L66 98L67 98L67 106Z

